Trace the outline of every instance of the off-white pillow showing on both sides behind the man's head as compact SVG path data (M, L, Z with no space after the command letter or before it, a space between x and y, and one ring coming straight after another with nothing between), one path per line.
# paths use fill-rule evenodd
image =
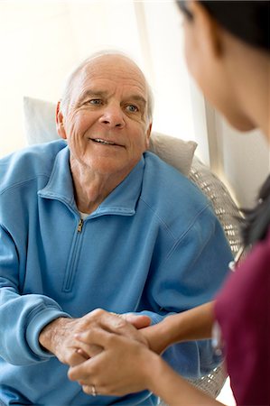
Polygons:
M59 138L55 125L55 110L54 103L33 97L23 97L27 143L47 143ZM150 140L149 151L157 154L184 175L189 174L197 143L154 132Z

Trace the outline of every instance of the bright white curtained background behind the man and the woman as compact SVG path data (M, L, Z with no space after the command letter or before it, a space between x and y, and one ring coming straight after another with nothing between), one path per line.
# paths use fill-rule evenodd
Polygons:
M0 156L25 144L23 96L57 101L80 60L120 49L154 88L154 129L197 141L200 158L250 206L269 172L269 151L260 136L242 143L205 103L185 67L181 21L165 0L0 1Z

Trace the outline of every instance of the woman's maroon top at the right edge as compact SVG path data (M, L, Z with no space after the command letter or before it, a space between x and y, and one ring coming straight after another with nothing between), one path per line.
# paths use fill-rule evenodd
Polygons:
M219 292L215 303L237 404L268 404L270 229Z

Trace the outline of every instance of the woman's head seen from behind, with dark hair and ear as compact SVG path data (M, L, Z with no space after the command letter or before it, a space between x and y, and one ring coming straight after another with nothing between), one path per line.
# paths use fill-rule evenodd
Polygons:
M256 126L266 129L263 121L267 117L262 119L256 106L262 110L265 105L266 113L269 2L177 1L177 4L184 15L188 67L205 96L237 129L246 131Z

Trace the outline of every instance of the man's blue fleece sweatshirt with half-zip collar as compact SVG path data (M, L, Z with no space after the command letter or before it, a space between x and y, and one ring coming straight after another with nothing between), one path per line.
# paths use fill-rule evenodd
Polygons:
M211 300L231 260L226 237L200 190L150 152L79 227L69 160L57 141L0 161L0 400L155 404L148 392L88 396L39 334L54 318L97 308L157 323ZM209 341L164 356L193 378L217 364Z

